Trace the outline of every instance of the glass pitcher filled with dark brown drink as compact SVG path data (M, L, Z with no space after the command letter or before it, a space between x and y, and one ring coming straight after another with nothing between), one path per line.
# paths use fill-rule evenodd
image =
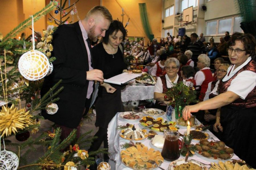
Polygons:
M184 140L177 131L164 129L163 132L165 140L161 155L166 161L175 161L180 157L179 140L181 148L184 145Z

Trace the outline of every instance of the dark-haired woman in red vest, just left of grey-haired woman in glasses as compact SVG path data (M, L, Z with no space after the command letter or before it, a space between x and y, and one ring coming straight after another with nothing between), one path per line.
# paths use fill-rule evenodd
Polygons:
M160 61L158 61L152 68L152 72L151 72L152 76L159 77L159 76L164 76L166 74L164 69L164 62L166 61L167 57L168 57L168 54L166 53L160 55L159 57Z

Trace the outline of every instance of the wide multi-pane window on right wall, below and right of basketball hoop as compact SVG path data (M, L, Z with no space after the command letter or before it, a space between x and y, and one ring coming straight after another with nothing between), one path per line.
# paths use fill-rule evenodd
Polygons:
M240 16L206 22L206 35L224 35L226 31L230 35L233 32L243 32L240 28L240 22Z

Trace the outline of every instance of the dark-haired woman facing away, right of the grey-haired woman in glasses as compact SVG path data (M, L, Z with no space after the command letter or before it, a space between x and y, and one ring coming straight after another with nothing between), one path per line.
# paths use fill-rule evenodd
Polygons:
M184 65L181 67L181 77L183 78L183 82L189 87L196 86L196 81L193 77L194 74L194 68L190 65Z

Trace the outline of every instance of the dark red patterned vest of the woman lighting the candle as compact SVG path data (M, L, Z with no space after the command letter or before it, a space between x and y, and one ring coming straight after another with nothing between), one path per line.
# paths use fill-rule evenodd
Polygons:
M232 80L242 71L252 71L256 73L256 62L254 60L249 61L243 68L241 68L233 77L231 77L227 81L220 81L219 84L219 94L225 93L227 91L227 88L230 86ZM239 106L239 107L245 107L245 108L253 108L256 107L256 87L245 97L244 99L241 99L240 97L233 101L233 103L230 104L231 106Z

